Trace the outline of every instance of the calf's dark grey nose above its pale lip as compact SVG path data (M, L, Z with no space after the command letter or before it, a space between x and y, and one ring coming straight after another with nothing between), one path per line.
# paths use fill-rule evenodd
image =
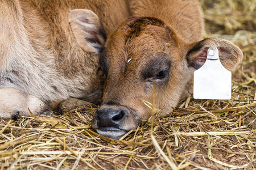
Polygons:
M123 109L116 110L113 108L102 108L97 110L95 118L99 128L118 128L126 114L127 112Z

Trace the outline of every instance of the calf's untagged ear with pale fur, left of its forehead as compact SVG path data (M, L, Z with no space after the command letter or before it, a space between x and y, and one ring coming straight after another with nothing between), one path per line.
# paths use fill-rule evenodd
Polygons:
M106 34L100 19L93 11L71 10L68 13L68 22L82 49L90 53L101 53L105 45Z

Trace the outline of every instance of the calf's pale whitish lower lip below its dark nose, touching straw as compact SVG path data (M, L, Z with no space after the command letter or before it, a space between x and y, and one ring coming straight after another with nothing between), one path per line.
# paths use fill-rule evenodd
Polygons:
M119 128L99 128L96 129L96 131L98 134L117 140L127 133L127 131L121 130Z

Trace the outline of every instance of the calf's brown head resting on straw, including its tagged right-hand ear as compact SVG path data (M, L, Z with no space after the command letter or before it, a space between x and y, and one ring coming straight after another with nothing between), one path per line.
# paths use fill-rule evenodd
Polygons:
M105 87L93 128L107 137L121 138L151 116L145 101L152 103L153 91L155 107L171 112L193 71L204 64L209 47L219 49L228 70L234 70L243 56L226 40L213 38L189 44L162 20L127 19L110 35L100 57Z

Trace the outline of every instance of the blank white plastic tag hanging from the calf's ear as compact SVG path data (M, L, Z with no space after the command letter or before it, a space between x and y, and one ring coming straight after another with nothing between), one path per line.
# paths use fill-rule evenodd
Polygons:
M218 49L208 49L207 60L194 73L194 99L231 99L231 72L218 57Z

